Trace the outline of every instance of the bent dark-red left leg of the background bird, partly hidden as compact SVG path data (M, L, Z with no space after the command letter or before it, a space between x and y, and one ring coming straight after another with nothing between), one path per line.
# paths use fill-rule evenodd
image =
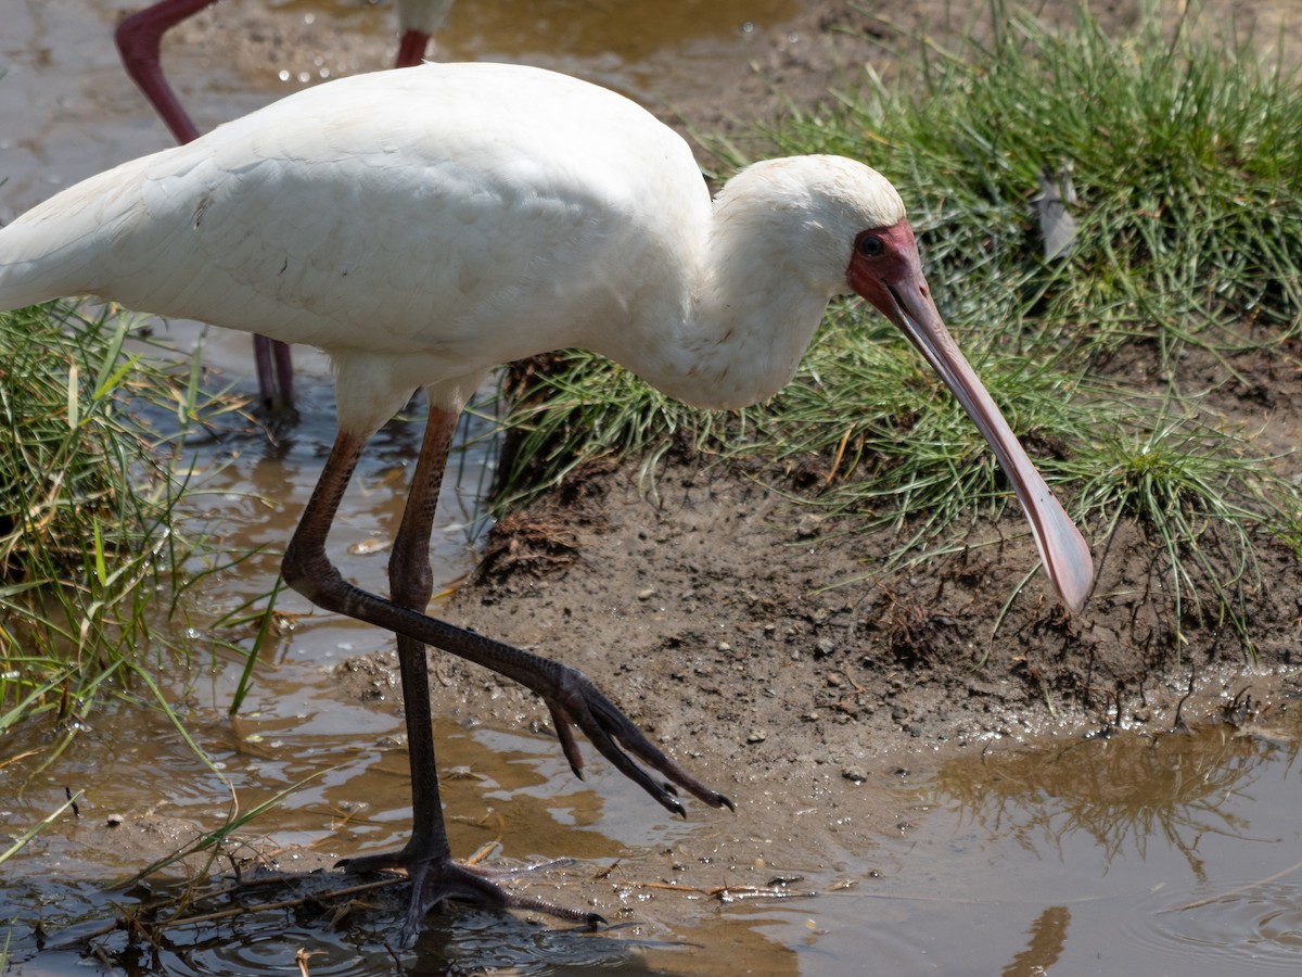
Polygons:
M163 35L172 27L215 3L216 0L161 0L126 17L113 31L122 66L180 143L197 139L199 130L194 128L163 74L160 46ZM266 336L254 336L253 354L263 409L279 414L293 406L294 367L289 347Z

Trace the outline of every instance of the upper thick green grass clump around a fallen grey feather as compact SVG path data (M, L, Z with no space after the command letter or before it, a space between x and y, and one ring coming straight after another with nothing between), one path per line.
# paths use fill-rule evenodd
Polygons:
M1126 38L1087 12L1055 33L991 7L984 43L919 42L910 85L865 87L763 132L781 154L838 152L891 176L939 296L1098 352L1134 339L1241 345L1297 328L1302 91L1251 38L1150 16ZM740 160L734 160L740 162ZM1072 175L1072 259L1047 264L1034 198ZM950 300L953 301L953 300ZM949 311L954 318L961 309ZM1014 317L1016 318L1016 317Z

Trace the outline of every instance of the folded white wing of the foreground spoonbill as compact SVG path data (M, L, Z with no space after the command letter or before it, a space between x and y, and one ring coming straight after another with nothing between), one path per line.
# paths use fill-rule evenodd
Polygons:
M664 263L644 259L672 233L651 224L684 208L708 211L690 152L625 99L427 65L301 92L92 177L0 232L0 266L25 263L10 294L29 301L90 293L478 366L582 341L582 320Z

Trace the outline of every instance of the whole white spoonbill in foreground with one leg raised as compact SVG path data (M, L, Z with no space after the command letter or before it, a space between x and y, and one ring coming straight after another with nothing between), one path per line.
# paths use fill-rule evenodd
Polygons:
M732 806L577 670L424 614L431 521L466 399L499 363L582 347L689 404L754 404L792 379L828 300L848 293L896 323L971 414L1079 610L1088 547L945 330L900 195L862 163L756 163L711 203L687 145L621 95L533 68L428 64L290 95L0 229L0 309L98 296L333 360L340 430L283 569L318 606L397 634L413 834L346 868L410 871L408 935L449 898L595 920L452 861L426 645L536 692L577 775L572 727L671 812L682 813L674 786ZM418 387L430 419L385 599L346 582L326 541L367 439Z

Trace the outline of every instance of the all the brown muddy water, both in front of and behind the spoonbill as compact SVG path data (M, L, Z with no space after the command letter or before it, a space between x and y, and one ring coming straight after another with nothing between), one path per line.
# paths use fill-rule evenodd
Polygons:
M86 173L167 145L107 42L113 16L133 5L4 0L5 216ZM375 66L391 56L383 10L344 3L273 7L273 25L286 38L342 25L349 34L340 36L350 39L331 46L320 63L263 57L258 70L232 66L238 59L221 57L228 51L220 46L182 43L169 59L187 78L201 124L247 111L305 76ZM686 85L707 59L745 57L741 25L780 22L790 7L464 3L440 44L452 57L582 68L637 94L652 77L681 72ZM253 7L230 0L225 9L246 23ZM206 343L210 363L243 376L243 337L187 326L174 335L182 345ZM195 499L194 518L232 550L268 550L236 572L208 577L189 607L193 668L177 670L163 689L215 769L178 741L141 688L96 714L49 766L40 765L43 728L26 728L0 749L10 761L0 769L5 845L65 789L85 791L79 817L61 818L0 868L0 960L8 970L85 973L87 963L107 969L79 956L83 941L122 973L294 972L299 948L312 952L314 974L1297 970L1302 729L1288 713L1251 735L1207 729L1070 740L913 765L915 772L891 787L865 788L865 802L901 812L893 832L870 836L840 825L810 828L824 819L815 802L799 797L753 801L753 810L771 806L751 821L745 809L736 818L671 821L604 765L594 763L587 782L575 780L548 737L462 723L454 689L435 701L454 849L500 843L513 858L575 856L573 866L543 873L530 891L572 905L595 899L615 926L589 934L452 908L430 917L400 967L383 950L401 913L397 890L359 899L335 925L316 911L285 908L168 930L156 947L129 946L122 934L92 937L120 907L174 895L181 871L164 871L148 888L124 890L124 878L233 810L247 812L286 788L293 788L288 797L240 835L250 849L279 851L281 868L314 869L401 844L408 831L397 689L376 673L374 701L359 703L337 694L332 679L340 663L387 647L383 636L285 597L281 610L296 615L294 630L263 649L250 700L238 718L227 715L241 662L214 640L210 623L262 594L275 577L275 551L333 432L323 362L301 353L298 369L303 422L293 432L276 444L228 439L203 459L207 494ZM398 518L417 447L417 434L396 425L367 456L335 538L345 574L381 585L383 541ZM441 502L437 559L449 580L471 559L477 483L474 474L450 479ZM221 637L249 644L247 634ZM786 830L747 836L759 823ZM260 831L271 838L260 839ZM730 864L741 839L768 845L768 864ZM725 903L699 891L729 878L789 879L785 890L794 898L779 899L775 887L764 898ZM286 883L276 895L309 882Z

